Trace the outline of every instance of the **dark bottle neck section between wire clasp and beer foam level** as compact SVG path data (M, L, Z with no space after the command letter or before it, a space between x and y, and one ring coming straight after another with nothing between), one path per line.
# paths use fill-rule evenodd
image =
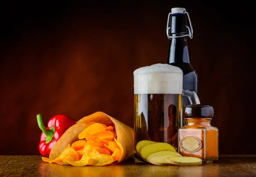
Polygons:
M186 37L171 38L168 64L189 62L189 51Z

